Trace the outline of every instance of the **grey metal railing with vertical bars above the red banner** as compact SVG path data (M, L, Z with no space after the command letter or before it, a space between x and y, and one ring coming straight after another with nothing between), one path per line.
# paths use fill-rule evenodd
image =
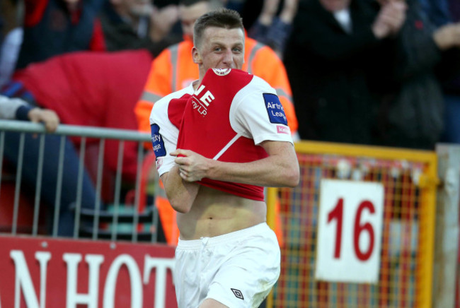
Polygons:
M13 136L13 140L18 142L18 160L16 166L11 168L14 173L8 174L4 172L4 168L2 168L2 162L4 162L4 151L8 150L8 147L16 146L12 144L6 143L10 141L11 138L8 138L12 134L12 132L18 132L17 136ZM35 187L24 187L23 185L23 174L25 172L30 172L30 170L25 170L23 165L24 155L30 151L29 146L30 144L25 143L26 138L30 138L30 134L36 135L35 140L38 143L38 153L33 155L36 156L36 162L34 164L37 165L37 176L36 176L36 183ZM66 194L68 192L62 191L63 189L63 180L65 177L75 176L76 175L76 199L74 204L72 204L72 211L74 211L74 233L73 237L89 237L91 239L130 239L132 242L137 242L138 240L149 240L150 242L156 242L156 230L159 230L159 220L158 220L158 213L156 213L156 208L154 206L141 206L139 208L139 204L145 204L145 201L141 202L141 198L146 198L144 192L143 196L141 196L141 187L140 183L142 182L142 177L146 176L145 172L143 174L142 170L142 162L144 161L144 152L142 143L149 141L150 136L149 134L141 134L137 131L128 131L122 129L102 129L96 127L88 127L88 126L71 126L71 125L59 125L57 131L52 134L55 135L55 138L59 138L59 155L57 161L57 174L50 174L49 170L43 170L43 161L45 160L45 143L47 142L46 138L51 136L50 134L46 134L44 127L41 124L34 124L30 122L20 122L20 121L0 121L0 182L2 182L2 186L5 185L5 182L14 183L14 196L12 204L5 204L7 201L5 198L2 198L0 202L4 203L2 208L6 209L4 211L4 215L2 223L6 223L7 226L3 225L2 230L4 232L8 232L8 227L11 227L9 230L11 235L17 235L18 233L27 233L30 232L30 235L36 236L46 233L43 231L40 226L42 225L43 220L42 211L44 209L40 208L42 206L42 197L40 195L40 191L43 191L42 185L45 179L49 177L56 177L56 196L54 202L54 216L52 218L52 231L48 230L48 234L52 237L58 236L58 226L59 226L59 211L62 206L68 205L61 205L60 197L62 194ZM59 136L59 137L57 137ZM7 137L7 138L6 138ZM63 170L66 167L65 164L69 163L69 158L64 157L64 153L67 153L69 149L68 146L70 139L73 141L77 141L76 143L79 144L79 155L78 161L72 161L73 163L78 163L78 174L63 174ZM75 138L78 137L78 138ZM30 140L33 139L28 139ZM81 191L84 189L84 177L85 172L88 170L85 167L85 155L87 152L87 144L88 140L91 141L92 144L96 143L98 148L97 150L97 157L93 158L96 160L96 165L93 167L92 170L94 174L93 183L94 189L96 191L96 204L94 205L93 209L82 208L81 204L84 202L81 197ZM117 142L117 153L116 155L116 170L113 170L113 197L110 198L110 205L107 208L102 207L103 200L101 195L103 194L103 179L104 179L104 171L107 169L105 165L105 143L108 140L116 140ZM132 179L126 180L123 179L123 166L126 164L126 155L124 155L125 144L127 142L134 142L137 143L137 172L136 178L134 181ZM76 150L76 149L75 149ZM30 159L30 158L29 158ZM8 164L8 162L6 162ZM10 164L11 165L11 164ZM3 167L11 167L8 165L3 165ZM13 180L13 181L11 181ZM123 185L128 186L128 188L124 187ZM0 186L0 194L3 193L7 194L8 191L5 191L5 188L2 189ZM5 186L4 186L5 187ZM35 188L35 191L33 189ZM64 187L65 188L65 187ZM50 189L50 187L45 187L44 189ZM54 189L54 187L52 187ZM131 200L132 203L130 206L126 206L126 198L123 200L122 198L126 195L126 189L130 189L130 196L134 196L134 200ZM33 191L31 193L31 191ZM30 200L30 196L34 195L33 200ZM0 195L1 196L1 195ZM21 206L27 206L24 202L24 199L29 199L29 203L33 203L33 208L28 208L23 211L20 211L20 204ZM151 203L153 204L153 202ZM47 205L47 211L50 211L53 207L52 205ZM50 208L52 207L52 208ZM11 220L8 223L8 217L6 217L6 213L8 213L9 209L12 208ZM32 218L25 218L27 217L27 211L33 211ZM46 211L46 210L45 210ZM21 213L21 215L20 215ZM21 217L22 216L22 217ZM88 221L89 223L81 223L81 221ZM24 225L28 225L24 231ZM148 230L144 230L142 232L142 226L149 224ZM50 228L48 228L50 229ZM22 231L21 231L22 230ZM41 231L40 231L41 230ZM139 238L140 237L140 238Z

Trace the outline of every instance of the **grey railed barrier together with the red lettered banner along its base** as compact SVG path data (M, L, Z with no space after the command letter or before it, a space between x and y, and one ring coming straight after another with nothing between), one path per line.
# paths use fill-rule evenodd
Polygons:
M177 307L149 140L0 121L0 307Z

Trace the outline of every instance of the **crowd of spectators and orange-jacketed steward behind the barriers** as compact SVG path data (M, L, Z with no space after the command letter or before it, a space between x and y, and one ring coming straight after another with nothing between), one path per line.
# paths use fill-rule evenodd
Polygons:
M226 6L241 13L247 30L243 69L277 90L297 140L429 150L441 141L460 143L458 0L3 0L0 6L0 104L16 97L29 109L54 111L64 124L149 131L154 102L197 78L193 22ZM31 119L8 110L0 117ZM53 138L47 142L57 153ZM6 142L14 164L18 135ZM30 144L38 148L33 138ZM78 144L68 145L71 166ZM115 146L105 152L113 164ZM125 152L129 177L136 148ZM36 168L30 160L25 181L35 182ZM75 192L72 168L64 185ZM85 182L91 208L96 196L89 176ZM55 191L43 195L54 202ZM72 198L62 194L62 206Z

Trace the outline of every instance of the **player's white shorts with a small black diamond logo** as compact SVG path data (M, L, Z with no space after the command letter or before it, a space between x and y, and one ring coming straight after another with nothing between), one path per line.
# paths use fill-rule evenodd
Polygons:
M173 277L179 308L207 298L227 307L259 307L280 276L280 246L266 223L176 248Z

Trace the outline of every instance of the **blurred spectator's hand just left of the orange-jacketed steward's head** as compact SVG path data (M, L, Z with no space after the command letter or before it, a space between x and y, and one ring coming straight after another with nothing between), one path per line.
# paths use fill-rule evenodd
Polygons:
M154 6L154 11L151 13L151 40L154 42L159 42L163 40L169 32L173 25L179 20L179 11L178 6L168 5L163 8L156 8Z

